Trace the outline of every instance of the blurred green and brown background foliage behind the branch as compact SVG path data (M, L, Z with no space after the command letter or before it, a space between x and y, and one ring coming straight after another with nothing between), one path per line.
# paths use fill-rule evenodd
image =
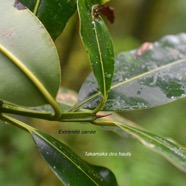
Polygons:
M115 54L155 41L167 34L186 32L185 1L118 0L109 3L115 9L115 23L110 29ZM88 56L79 37L77 13L56 40L62 85L79 91L90 73ZM31 96L31 95L30 95ZM139 126L186 146L186 100L158 108L120 113ZM89 124L27 121L68 144L88 162L110 168L121 186L184 186L186 175L160 155L146 149L126 134L118 134ZM96 130L95 135L61 135L59 129ZM0 123L0 185L61 185L41 158L29 134ZM130 152L131 157L86 157L85 152Z

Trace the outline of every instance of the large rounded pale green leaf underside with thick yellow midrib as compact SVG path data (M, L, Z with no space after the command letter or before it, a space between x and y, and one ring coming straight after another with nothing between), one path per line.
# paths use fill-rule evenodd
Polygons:
M51 103L60 84L52 39L14 0L1 1L0 12L0 99L23 106Z

